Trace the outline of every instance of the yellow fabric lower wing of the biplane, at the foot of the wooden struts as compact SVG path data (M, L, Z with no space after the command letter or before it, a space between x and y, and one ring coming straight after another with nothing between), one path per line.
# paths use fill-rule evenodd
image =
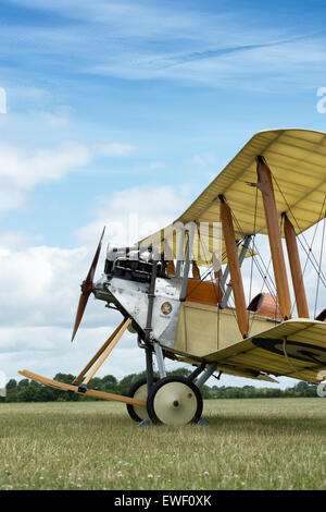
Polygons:
M326 324L292 319L204 356L218 362L318 383L326 369Z

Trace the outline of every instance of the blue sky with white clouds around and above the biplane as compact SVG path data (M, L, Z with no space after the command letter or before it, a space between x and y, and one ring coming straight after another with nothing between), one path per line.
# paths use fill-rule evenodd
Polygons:
M322 0L1 1L7 378L77 374L120 322L90 300L70 342L104 224L104 246L133 243L177 218L258 131L326 131L325 15ZM143 359L127 333L99 376ZM246 383L258 385L221 380Z

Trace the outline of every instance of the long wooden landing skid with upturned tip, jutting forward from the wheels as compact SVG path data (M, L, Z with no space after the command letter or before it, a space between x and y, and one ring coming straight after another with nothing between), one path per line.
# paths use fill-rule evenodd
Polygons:
M95 389L87 389L85 392L79 392L78 386L66 385L64 382L59 382L58 380L48 379L47 377L34 374L33 371L28 371L27 369L20 371L20 374L26 377L27 379L35 380L36 382L48 386L49 388L59 389L61 391L72 391L74 393L83 394L86 397L92 397L95 399L112 400L114 402L129 403L139 407L146 407L145 400L136 400L131 399L130 397L123 397L121 394L105 393L104 391L96 391Z

